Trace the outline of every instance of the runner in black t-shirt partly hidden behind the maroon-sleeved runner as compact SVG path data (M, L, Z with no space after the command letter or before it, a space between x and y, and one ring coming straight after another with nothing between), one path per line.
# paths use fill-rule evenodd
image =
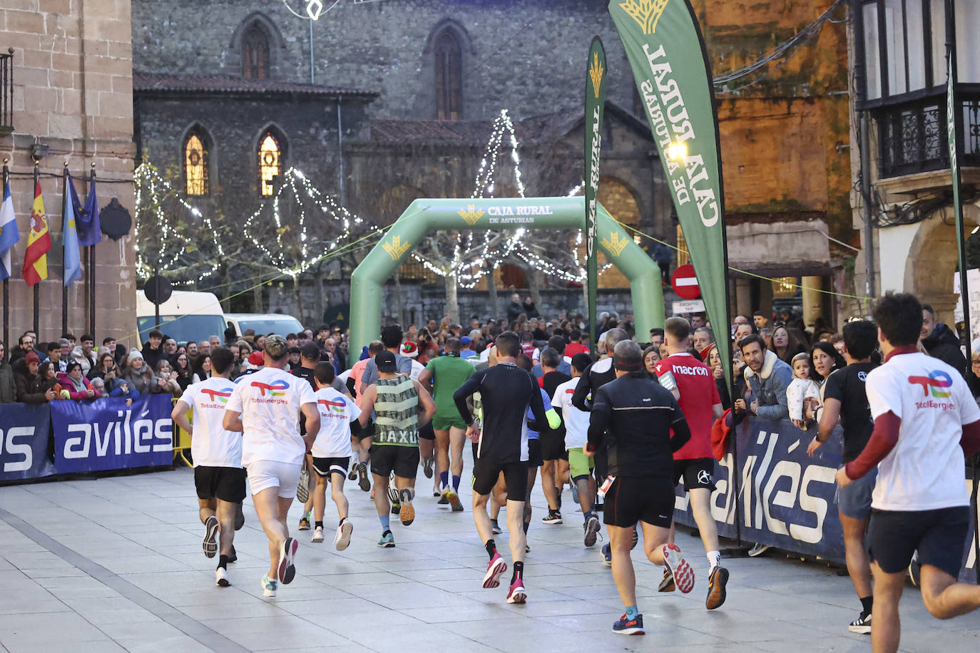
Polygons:
M816 450L830 439L840 417L844 430L844 464L858 457L874 430L871 411L864 392L867 375L877 365L871 362L871 352L878 346L878 331L872 322L858 320L844 325L844 357L848 366L835 370L823 387L823 414L820 430L809 443L807 453ZM871 514L871 490L874 490L878 470L872 469L847 488L837 490L837 511L844 529L844 551L848 575L858 592L861 611L851 622L852 632L871 632L871 563L867 559L864 534Z

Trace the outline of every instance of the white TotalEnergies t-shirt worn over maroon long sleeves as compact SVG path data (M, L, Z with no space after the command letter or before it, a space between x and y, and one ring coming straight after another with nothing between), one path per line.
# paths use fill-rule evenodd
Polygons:
M865 390L873 419L888 411L902 419L899 443L878 463L871 506L969 505L959 440L963 424L980 420L980 408L959 372L924 353L900 353L868 373Z

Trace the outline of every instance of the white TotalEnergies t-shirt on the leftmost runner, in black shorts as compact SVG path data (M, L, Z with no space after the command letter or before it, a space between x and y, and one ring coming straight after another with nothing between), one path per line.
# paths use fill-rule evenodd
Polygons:
M224 406L234 388L230 380L213 376L187 386L180 396L194 411L194 437L190 441L194 467L241 468L242 434L221 426Z

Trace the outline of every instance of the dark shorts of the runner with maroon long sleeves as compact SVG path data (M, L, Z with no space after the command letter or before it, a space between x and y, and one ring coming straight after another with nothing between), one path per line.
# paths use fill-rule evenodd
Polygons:
M867 550L886 574L904 572L918 550L921 565L959 577L970 530L969 506L936 510L875 510L867 530Z

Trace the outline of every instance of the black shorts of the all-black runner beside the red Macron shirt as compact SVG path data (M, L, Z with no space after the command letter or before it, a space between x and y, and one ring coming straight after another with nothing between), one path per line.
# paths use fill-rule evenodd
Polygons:
M607 526L628 528L646 522L669 529L673 521L673 489L666 478L617 477L606 492L603 519Z

